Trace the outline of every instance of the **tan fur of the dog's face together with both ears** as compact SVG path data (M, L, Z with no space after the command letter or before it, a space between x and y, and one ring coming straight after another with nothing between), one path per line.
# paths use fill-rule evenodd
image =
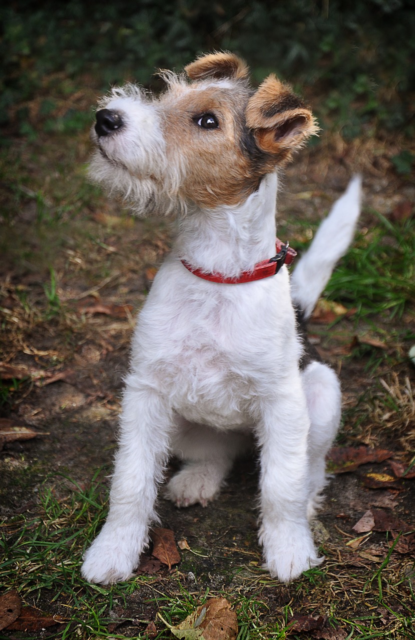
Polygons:
M192 79L229 79L229 86L203 81L170 81L161 97L163 131L172 166L182 164L179 195L202 207L236 205L253 193L261 178L286 164L316 127L304 103L275 76L257 92L230 74L245 77L247 68L231 54L211 54L191 63ZM172 79L174 79L172 77ZM197 124L214 115L216 129Z

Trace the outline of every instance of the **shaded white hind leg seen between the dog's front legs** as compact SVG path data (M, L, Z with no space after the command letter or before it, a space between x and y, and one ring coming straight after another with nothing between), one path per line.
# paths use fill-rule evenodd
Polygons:
M220 491L232 463L252 439L235 431L218 431L181 420L173 441L183 467L167 485L166 497L178 507L200 502L204 507Z

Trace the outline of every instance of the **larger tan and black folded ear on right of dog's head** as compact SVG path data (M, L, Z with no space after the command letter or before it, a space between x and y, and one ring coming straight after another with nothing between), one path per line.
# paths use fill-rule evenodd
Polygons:
M252 130L257 146L266 153L286 161L291 152L302 147L319 127L288 84L273 74L268 76L250 97L246 111L247 127Z

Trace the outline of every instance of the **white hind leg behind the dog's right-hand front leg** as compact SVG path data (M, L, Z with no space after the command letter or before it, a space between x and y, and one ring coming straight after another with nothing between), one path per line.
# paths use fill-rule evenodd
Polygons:
M325 456L339 428L341 392L338 377L321 362L311 362L302 372L302 381L311 423L307 506L307 516L311 519L321 502L320 492L326 484Z

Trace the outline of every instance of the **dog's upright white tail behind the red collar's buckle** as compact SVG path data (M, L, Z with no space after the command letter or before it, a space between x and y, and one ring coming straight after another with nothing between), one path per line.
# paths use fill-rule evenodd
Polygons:
M361 209L361 187L359 175L350 180L291 276L291 298L304 319L311 316L336 263L352 242Z

